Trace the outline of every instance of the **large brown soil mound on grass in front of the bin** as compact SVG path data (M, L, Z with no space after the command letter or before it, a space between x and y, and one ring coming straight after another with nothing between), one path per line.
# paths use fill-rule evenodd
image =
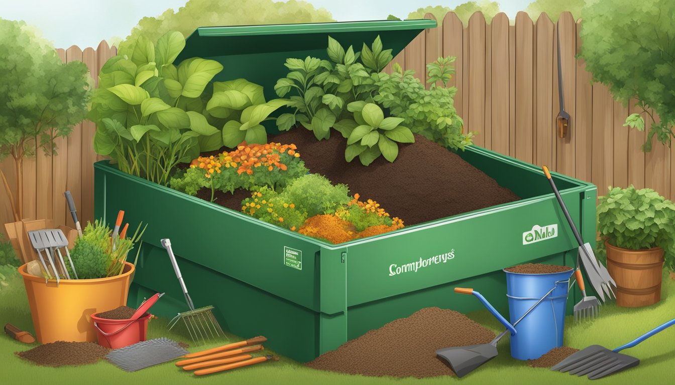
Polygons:
M350 340L306 363L314 369L364 376L454 376L436 356L445 347L489 343L495 334L464 314L427 307Z

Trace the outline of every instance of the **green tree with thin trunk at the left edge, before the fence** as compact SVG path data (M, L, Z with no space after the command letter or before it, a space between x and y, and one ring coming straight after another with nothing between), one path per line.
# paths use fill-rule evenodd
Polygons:
M0 19L0 160L16 166L16 200L3 179L14 218L22 218L23 159L55 150L86 115L90 78L81 61L61 63L54 47L24 22Z

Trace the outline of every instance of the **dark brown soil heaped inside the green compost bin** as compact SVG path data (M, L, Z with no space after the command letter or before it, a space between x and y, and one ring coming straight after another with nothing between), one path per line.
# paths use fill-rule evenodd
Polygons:
M358 158L349 163L344 160L347 142L337 132L331 133L329 140L317 140L311 131L296 127L271 136L269 141L296 144L300 158L312 173L324 175L335 184L345 183L352 195L358 193L363 199L377 201L392 218L404 220L406 226L520 199L454 152L420 135L415 135L415 143L399 144L398 158L393 163L379 157L368 167L361 165ZM240 211L241 201L248 194L216 191L215 202ZM201 189L197 196L211 200L211 190Z

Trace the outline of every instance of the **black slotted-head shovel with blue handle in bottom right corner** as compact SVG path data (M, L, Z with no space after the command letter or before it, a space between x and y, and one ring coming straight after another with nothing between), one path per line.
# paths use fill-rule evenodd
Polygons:
M600 345L591 345L570 355L570 357L562 360L558 365L551 367L551 370L570 372L570 374L576 374L576 376L588 374L589 379L595 380L596 378L609 376L629 367L637 366L640 363L639 359L618 352L634 347L643 340L673 325L675 325L675 318L614 350L601 347Z

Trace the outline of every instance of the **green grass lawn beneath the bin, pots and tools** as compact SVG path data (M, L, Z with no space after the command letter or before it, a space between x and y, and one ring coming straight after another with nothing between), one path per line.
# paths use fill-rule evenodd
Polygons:
M32 321L28 310L28 301L23 282L10 268L0 266L0 273L7 276L5 285L0 285L0 322L11 322L27 330L32 330ZM475 312L468 315L473 320L501 331L503 328L487 312ZM574 319L566 320L565 342L570 347L583 349L588 345L602 345L614 349L633 338L651 330L675 317L675 280L664 275L664 288L661 302L643 309L624 309L614 304L604 305L601 316L591 322L574 324ZM189 342L189 338L173 332L167 332L167 320L153 320L148 330L148 338L167 336L174 340ZM251 336L246 336L250 338ZM240 340L230 336L230 340ZM222 342L207 347L223 345ZM309 369L302 364L282 357L278 362L261 363L252 367L236 369L211 376L196 377L184 372L173 363L165 363L143 369L135 373L126 373L121 369L99 361L95 365L80 367L41 367L32 365L14 355L16 351L31 347L10 339L6 334L0 336L0 382L2 384L82 384L91 381L99 384L572 384L588 383L586 377L577 378L548 369L535 369L522 361L512 359L509 354L508 338L499 343L499 356L479 367L464 378L450 376L437 378L373 378L348 376ZM190 351L205 349L190 348ZM672 384L672 371L675 365L675 328L669 328L649 338L637 347L627 349L627 353L641 360L639 366L624 372L597 380L594 384ZM387 357L382 357L387 359Z

